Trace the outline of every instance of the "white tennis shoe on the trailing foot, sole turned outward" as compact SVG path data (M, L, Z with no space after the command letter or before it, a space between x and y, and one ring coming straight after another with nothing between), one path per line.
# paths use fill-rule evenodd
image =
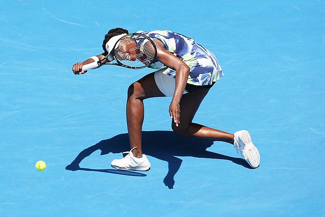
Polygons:
M248 131L242 130L234 133L234 147L237 153L240 151L242 158L253 167L260 166L260 152L254 146Z

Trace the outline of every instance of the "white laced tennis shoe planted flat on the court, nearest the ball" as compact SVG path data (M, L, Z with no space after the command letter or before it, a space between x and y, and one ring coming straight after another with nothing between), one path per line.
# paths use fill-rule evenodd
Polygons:
M133 149L135 149L134 147ZM132 150L123 152L123 154L127 155L121 159L115 159L112 161L111 166L115 169L120 170L137 170L137 171L147 171L150 169L150 162L148 158L146 158L145 154L142 154L142 157L137 158L133 156Z

